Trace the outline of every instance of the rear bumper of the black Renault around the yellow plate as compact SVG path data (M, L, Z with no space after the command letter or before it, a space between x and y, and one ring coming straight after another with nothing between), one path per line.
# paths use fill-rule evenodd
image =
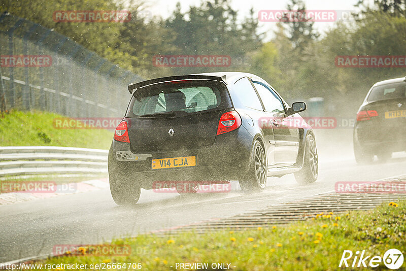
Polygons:
M175 152L134 154L142 160L119 161L117 152L130 151L129 143L113 140L109 152L109 175L129 178L141 187L151 189L156 181L224 181L238 180L249 169L253 138L243 127L220 134L210 147ZM142 156L143 155L143 156ZM152 170L152 159L196 156L196 166Z

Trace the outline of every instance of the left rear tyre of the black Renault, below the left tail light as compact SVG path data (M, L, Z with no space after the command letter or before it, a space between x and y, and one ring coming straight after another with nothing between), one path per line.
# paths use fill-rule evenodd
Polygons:
M110 149L108 158L110 193L117 205L132 206L138 202L141 188L137 181L128 179L120 170L118 161Z

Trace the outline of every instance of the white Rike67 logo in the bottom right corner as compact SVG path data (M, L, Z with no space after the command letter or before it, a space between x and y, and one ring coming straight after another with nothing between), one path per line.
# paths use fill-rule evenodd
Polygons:
M367 256L365 250L361 253L356 251L355 254L351 250L344 250L339 267L378 267L382 262L389 269L398 269L403 264L403 254L397 249L389 249L382 258L381 256Z

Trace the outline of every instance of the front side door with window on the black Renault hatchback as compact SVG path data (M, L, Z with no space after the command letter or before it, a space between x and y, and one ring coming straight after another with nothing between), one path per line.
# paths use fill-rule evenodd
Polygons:
M286 108L274 89L255 79L253 84L265 107L269 125L273 129L275 140L270 143L275 145L275 165L278 167L293 165L299 151L299 129L290 125L291 122L283 121Z

